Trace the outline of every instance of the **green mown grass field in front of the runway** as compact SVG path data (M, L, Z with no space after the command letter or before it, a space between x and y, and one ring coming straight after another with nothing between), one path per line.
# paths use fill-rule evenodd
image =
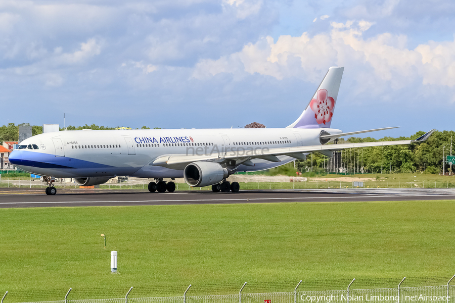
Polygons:
M448 280L454 202L0 209L0 293L10 291L8 303L61 300L69 287L80 299L124 297L130 286L131 296L168 296L189 284L217 294L245 281L254 292L292 291L299 280L336 289L352 278L356 287Z

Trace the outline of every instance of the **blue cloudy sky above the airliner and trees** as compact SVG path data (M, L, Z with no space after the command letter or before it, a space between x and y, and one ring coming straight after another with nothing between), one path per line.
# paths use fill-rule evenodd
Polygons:
M0 0L0 125L286 127L344 66L333 128L454 130L454 33L453 1Z

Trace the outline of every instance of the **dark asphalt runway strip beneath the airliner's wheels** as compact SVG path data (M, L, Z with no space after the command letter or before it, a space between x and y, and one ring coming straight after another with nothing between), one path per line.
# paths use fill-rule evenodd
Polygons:
M445 188L369 188L369 189L282 189L244 190L239 193L176 191L150 193L145 190L58 189L46 195L43 189L0 188L0 208L140 206L240 203L305 203L455 200L455 189Z

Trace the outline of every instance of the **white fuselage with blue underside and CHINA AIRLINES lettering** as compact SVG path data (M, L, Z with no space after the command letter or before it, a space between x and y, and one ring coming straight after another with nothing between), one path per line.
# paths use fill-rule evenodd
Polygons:
M183 169L152 162L167 155L223 155L229 150L320 145L322 130L341 133L328 128L59 131L24 140L10 161L24 171L58 178L176 178L183 177ZM241 164L231 172L264 170L295 160L289 156L278 158L281 162L252 159L254 166Z

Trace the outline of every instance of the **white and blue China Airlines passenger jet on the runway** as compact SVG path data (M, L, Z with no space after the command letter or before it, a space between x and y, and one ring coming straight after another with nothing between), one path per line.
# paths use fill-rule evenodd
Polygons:
M80 186L103 184L116 176L151 178L150 192L173 192L185 178L193 187L212 185L215 192L238 192L237 172L274 168L317 152L353 147L418 143L416 140L327 144L342 137L386 127L343 133L330 128L344 67L331 67L299 118L286 128L91 130L43 133L19 143L9 161L43 176L45 193L55 195L55 178L72 178Z

